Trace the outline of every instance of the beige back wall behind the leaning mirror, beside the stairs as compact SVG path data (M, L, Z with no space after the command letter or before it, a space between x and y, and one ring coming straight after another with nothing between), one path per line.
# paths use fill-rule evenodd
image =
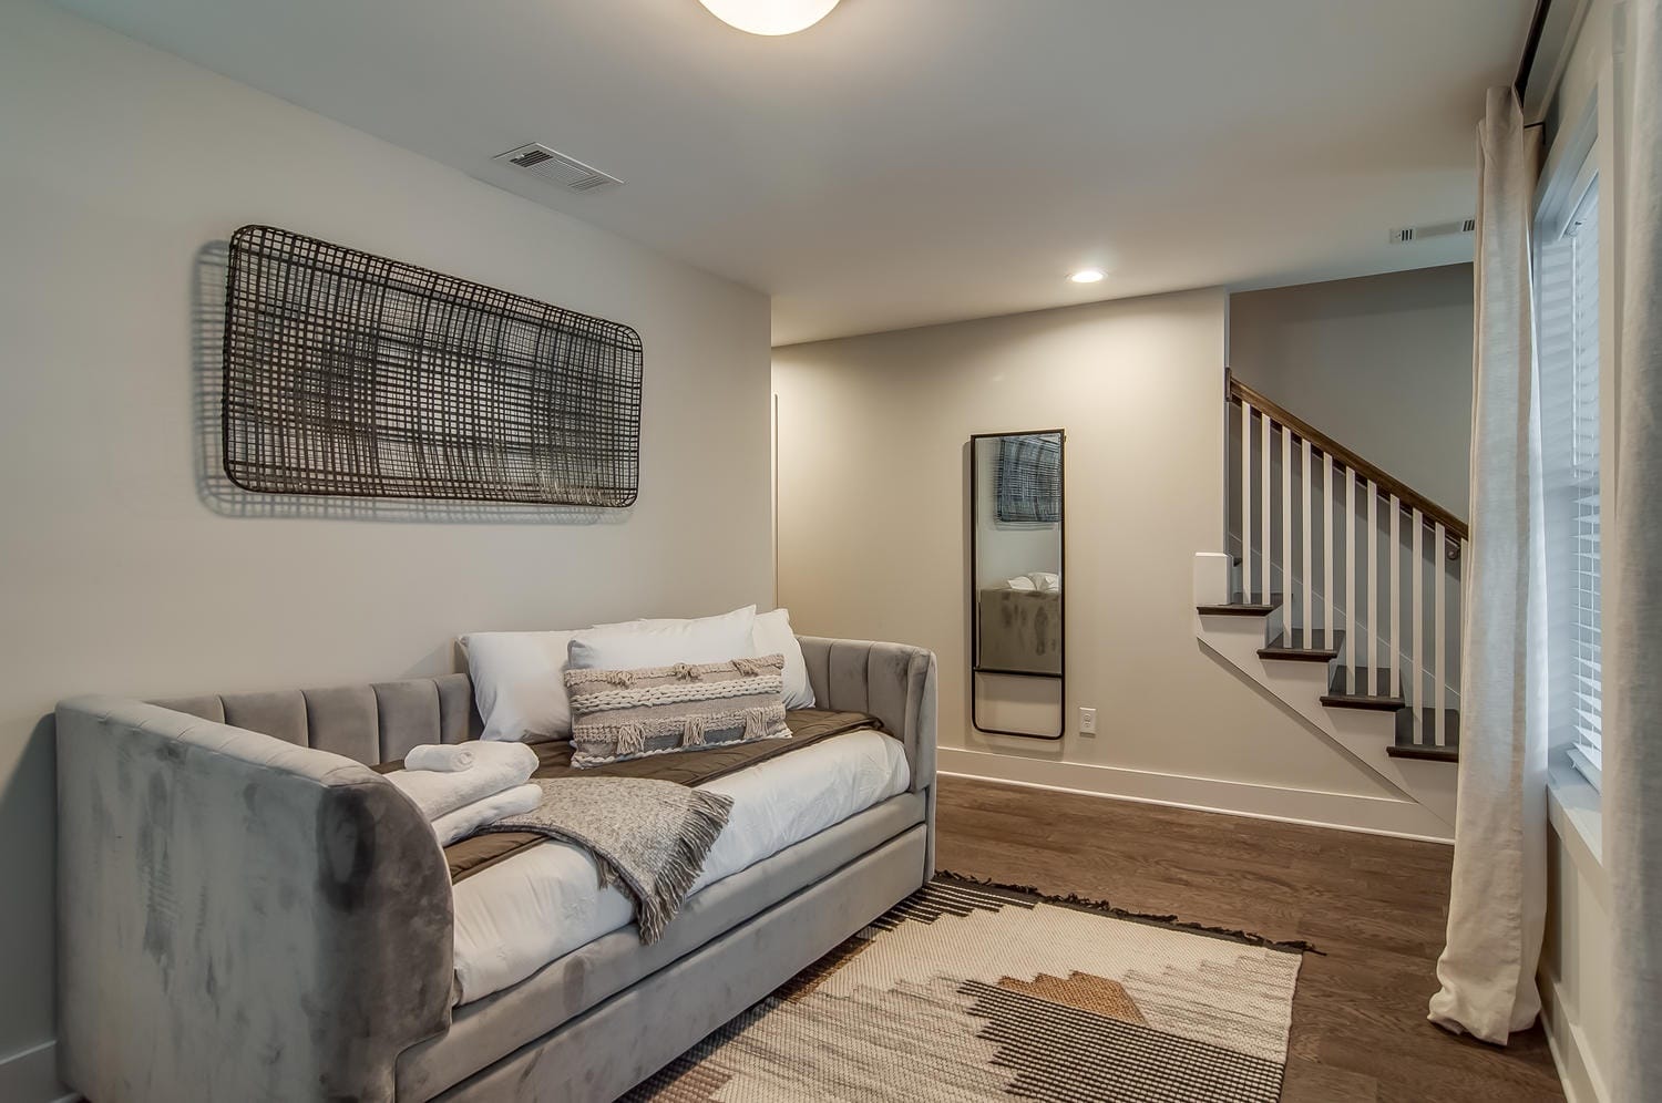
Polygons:
M1195 640L1192 556L1223 540L1223 346L1225 294L1195 291L776 349L779 603L803 631L932 648L947 769L1293 816L1384 796ZM982 736L967 442L1057 427L1069 734Z

